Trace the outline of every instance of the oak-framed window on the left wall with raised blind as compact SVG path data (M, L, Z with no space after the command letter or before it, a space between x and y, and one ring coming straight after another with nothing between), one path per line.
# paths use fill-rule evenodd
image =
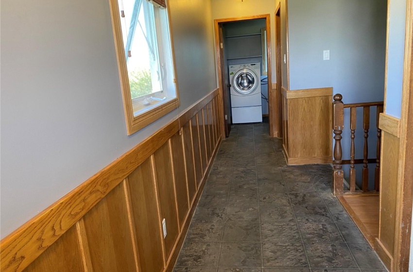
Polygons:
M179 106L165 0L110 0L128 135Z

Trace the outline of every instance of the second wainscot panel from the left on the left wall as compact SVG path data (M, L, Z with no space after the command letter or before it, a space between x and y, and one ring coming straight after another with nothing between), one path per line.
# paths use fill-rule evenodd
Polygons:
M137 271L122 183L82 220L93 271Z

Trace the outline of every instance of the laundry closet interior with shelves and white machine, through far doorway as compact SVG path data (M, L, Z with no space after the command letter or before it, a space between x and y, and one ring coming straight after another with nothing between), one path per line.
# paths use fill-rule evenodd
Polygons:
M234 124L261 122L268 116L265 27L265 19L222 24L228 121Z

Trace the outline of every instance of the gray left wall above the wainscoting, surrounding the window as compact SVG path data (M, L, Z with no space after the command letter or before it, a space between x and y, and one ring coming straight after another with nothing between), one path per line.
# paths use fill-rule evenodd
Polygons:
M181 106L127 136L109 1L1 1L1 238L216 88L210 2L170 5Z

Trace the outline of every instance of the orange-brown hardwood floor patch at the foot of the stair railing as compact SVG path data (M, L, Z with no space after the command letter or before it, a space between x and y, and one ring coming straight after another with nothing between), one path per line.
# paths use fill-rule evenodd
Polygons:
M340 201L374 247L374 240L379 237L379 194L344 195Z

